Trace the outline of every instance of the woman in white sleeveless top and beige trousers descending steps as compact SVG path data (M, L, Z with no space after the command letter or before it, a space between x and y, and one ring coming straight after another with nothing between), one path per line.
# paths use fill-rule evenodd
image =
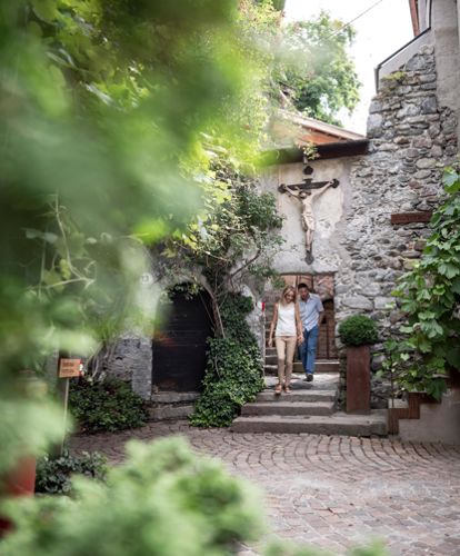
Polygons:
M274 305L269 347L273 345L273 334L278 356L278 384L274 393L281 394L284 387L284 391L289 394L296 342L300 345L303 340L299 306L296 302L296 288L292 286L287 286L282 290L280 300Z

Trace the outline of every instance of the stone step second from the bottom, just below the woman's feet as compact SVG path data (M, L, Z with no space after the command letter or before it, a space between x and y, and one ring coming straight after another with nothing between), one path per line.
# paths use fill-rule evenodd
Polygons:
M274 395L272 395L272 398ZM278 396L277 396L278 397ZM276 416L276 415L291 415L291 416L301 416L301 415L332 415L333 413L333 401L293 401L290 399L290 394L282 394L280 396L282 400L273 401L272 404L268 403L254 403L254 404L246 404L241 408L242 416L252 416L252 415L267 415L267 416Z

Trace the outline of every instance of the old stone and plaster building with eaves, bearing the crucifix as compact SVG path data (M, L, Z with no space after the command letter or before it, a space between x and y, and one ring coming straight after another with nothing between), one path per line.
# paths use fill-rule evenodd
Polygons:
M460 4L410 0L410 6L416 37L376 70L367 137L294 118L296 140L271 152L272 163L260 179L260 189L276 195L284 216L277 269L289 279L327 284L322 297L330 321L336 326L348 315L369 315L381 339L401 318L391 291L420 256L429 216L442 195L442 168L458 152ZM306 161L308 142L317 146L318 158ZM294 186L300 185L314 192L309 206L299 198L301 188ZM302 215L314 222L310 250ZM249 284L247 289L259 307L251 324L263 346L260 302L271 302L273 292L270 285L262 297ZM126 338L117 349L113 370L149 397L158 373L151 338ZM374 368L381 350L376 346Z

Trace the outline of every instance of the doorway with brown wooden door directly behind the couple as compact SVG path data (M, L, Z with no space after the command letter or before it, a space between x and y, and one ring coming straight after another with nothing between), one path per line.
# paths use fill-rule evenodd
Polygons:
M307 284L313 294L320 296L324 307L324 321L320 326L318 339L317 359L336 360L336 314L333 304L334 278L333 274L286 274L282 279L287 286L293 286L296 289L299 284ZM282 289L282 288L281 288ZM281 289L270 294L268 302L274 304L281 294Z

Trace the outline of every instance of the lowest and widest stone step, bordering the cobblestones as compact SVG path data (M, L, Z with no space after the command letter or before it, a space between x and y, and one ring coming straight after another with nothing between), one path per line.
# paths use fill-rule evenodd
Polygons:
M370 415L336 413L330 416L251 416L238 417L233 433L276 433L343 436L386 436L387 410L374 409Z

